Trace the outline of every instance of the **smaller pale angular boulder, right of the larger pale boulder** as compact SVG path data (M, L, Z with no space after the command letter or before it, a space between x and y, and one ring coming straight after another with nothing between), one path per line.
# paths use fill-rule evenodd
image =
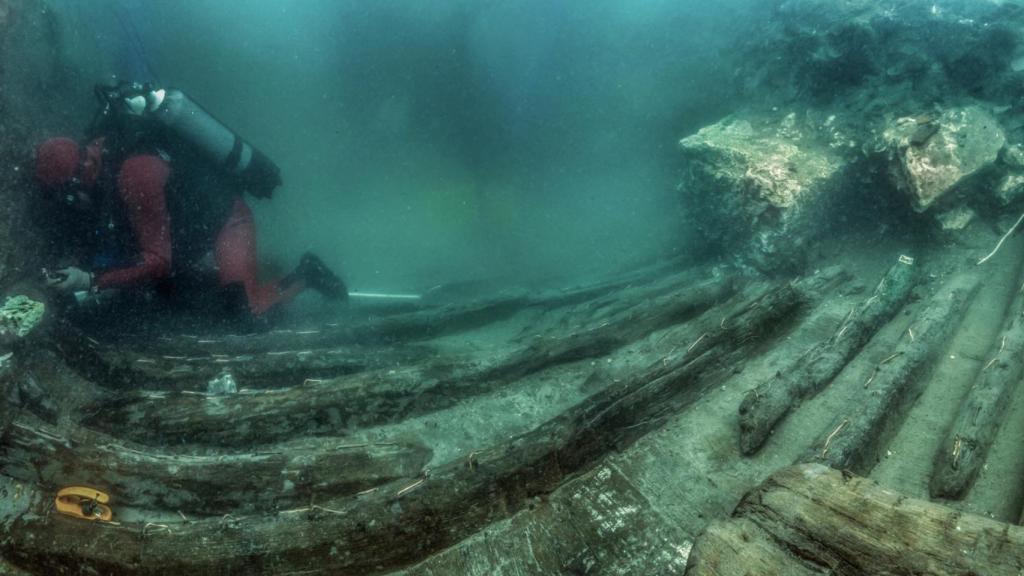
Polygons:
M883 137L896 187L919 212L990 168L1007 141L995 118L977 106L899 118Z

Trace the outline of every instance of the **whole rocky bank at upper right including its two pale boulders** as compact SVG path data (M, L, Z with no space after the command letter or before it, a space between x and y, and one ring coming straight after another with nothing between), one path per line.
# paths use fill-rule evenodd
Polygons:
M1016 211L1022 23L1001 2L782 2L737 71L748 107L681 141L688 225L711 254L790 273L856 217L966 234Z

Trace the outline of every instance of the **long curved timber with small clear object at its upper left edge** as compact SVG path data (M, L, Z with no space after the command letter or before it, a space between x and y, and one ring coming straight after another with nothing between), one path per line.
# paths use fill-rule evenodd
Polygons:
M449 408L543 368L607 354L652 329L692 318L729 294L731 286L719 279L679 289L592 330L527 345L495 367L444 360L227 397L120 395L86 410L94 415L83 423L158 445L251 446L300 433L341 435Z

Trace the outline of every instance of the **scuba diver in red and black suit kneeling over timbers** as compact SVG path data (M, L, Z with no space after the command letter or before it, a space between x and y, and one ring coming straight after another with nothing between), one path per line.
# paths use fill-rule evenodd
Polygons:
M257 276L256 230L244 193L282 183L266 156L179 90L97 86L86 143L42 142L40 215L62 258L46 285L77 299L144 292L166 301L265 318L304 288L332 300L345 284L315 255L274 282Z

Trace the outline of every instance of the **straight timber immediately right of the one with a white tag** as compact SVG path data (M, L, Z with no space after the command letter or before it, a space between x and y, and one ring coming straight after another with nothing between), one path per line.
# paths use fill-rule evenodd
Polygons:
M893 354L879 362L857 399L822 431L804 461L867 474L920 395L916 383L945 348L980 285L977 277L961 276L943 286L914 321L913 336L905 334Z

